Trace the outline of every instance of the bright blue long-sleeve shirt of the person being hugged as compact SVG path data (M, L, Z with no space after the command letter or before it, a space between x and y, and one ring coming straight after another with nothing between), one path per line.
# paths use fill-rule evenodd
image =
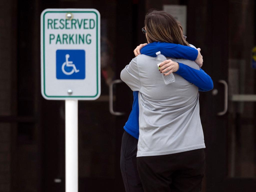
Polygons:
M156 52L161 51L165 57L184 58L188 60L196 60L198 51L189 46L172 44L166 42L153 42L143 47L141 54L156 57ZM179 63L179 69L176 73L186 79L188 82L195 84L199 91L209 91L213 89L211 77L204 70L194 69L183 63ZM139 138L139 104L138 91L133 92L132 111L127 122L124 125L124 130L135 138Z

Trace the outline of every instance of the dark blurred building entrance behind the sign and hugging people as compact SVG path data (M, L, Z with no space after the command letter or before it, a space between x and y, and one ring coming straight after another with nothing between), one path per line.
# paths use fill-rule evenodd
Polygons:
M78 104L79 191L124 191L120 148L133 97L125 83L113 81L146 42L141 28L151 8L182 22L214 81L214 90L200 92L202 191L256 191L254 0L0 0L1 192L65 191L65 103L40 92L40 14L46 8L101 14L101 96Z

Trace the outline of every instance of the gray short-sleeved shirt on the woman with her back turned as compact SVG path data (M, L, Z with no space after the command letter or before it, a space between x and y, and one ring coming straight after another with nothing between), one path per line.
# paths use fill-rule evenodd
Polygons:
M172 59L192 68L186 59ZM205 148L199 116L198 87L174 73L166 85L156 58L138 55L121 72L121 79L139 91L139 141L137 157L179 153Z

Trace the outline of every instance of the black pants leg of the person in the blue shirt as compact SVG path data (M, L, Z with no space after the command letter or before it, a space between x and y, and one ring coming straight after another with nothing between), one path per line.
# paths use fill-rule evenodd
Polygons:
M126 192L143 192L137 170L137 145L138 140L124 131L121 146L120 166Z

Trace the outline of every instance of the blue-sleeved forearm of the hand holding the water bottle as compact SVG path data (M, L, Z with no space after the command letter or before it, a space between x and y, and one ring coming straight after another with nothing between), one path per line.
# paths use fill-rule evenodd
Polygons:
M193 83L199 88L199 91L209 91L213 89L211 77L202 69L197 70L183 63L179 63L179 69L175 73L182 76L188 82Z

